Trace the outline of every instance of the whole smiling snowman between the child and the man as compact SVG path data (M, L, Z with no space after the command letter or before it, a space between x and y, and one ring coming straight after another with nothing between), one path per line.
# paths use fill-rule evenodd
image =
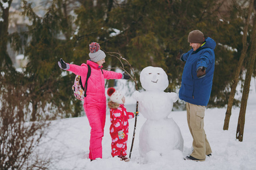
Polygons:
M175 92L164 92L168 76L160 67L148 66L141 71L140 80L144 92L135 91L133 97L139 102L139 113L146 118L139 133L139 154L170 155L171 151L183 152L183 137L179 126L168 118L178 99Z

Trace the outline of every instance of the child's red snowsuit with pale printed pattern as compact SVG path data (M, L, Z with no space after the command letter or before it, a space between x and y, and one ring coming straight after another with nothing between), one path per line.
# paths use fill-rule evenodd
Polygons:
M129 133L128 119L134 118L133 112L127 112L123 104L120 104L117 109L110 108L110 135L112 137L111 155L126 156L127 155L127 139ZM118 138L118 131L122 130L125 138Z

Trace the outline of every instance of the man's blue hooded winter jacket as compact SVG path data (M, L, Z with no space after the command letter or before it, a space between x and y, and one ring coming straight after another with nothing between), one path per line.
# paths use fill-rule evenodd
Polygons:
M195 52L191 49L181 57L181 60L186 62L179 91L181 100L191 104L207 106L212 91L215 46L216 42L207 37L205 44ZM200 66L206 68L206 75L203 78L197 78L196 76L196 70Z

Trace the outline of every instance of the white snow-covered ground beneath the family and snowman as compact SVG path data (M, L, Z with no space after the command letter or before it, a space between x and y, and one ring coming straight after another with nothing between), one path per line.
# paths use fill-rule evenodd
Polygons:
M253 79L252 79L253 81ZM105 134L102 141L103 159L90 162L89 139L90 126L86 117L67 118L52 121L51 129L40 145L40 152L46 158L51 158L54 164L50 169L256 169L256 92L251 88L246 109L246 122L243 142L236 140L236 129L240 108L232 110L229 130L222 130L226 108L206 109L205 132L212 147L212 156L205 162L183 160L179 152L171 152L168 157L154 157L150 162L145 162L139 155L139 131L146 119L141 115L137 121L133 153L130 162L121 162L112 158L111 138L109 134L109 112L106 116ZM175 105L175 103L174 103ZM135 111L135 105L126 105L127 111ZM192 137L189 133L185 111L174 111L170 114L180 127L184 139L183 156L191 153ZM127 152L130 153L133 137L134 120L129 120L129 139ZM127 155L129 156L129 154Z

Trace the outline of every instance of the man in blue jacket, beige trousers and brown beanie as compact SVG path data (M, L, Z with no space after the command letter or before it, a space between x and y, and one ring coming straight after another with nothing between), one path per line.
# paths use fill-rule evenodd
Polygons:
M212 91L216 42L199 30L189 32L187 53L180 53L177 59L185 63L179 97L186 102L188 127L193 137L193 152L185 159L204 161L212 150L204 131L204 113Z

